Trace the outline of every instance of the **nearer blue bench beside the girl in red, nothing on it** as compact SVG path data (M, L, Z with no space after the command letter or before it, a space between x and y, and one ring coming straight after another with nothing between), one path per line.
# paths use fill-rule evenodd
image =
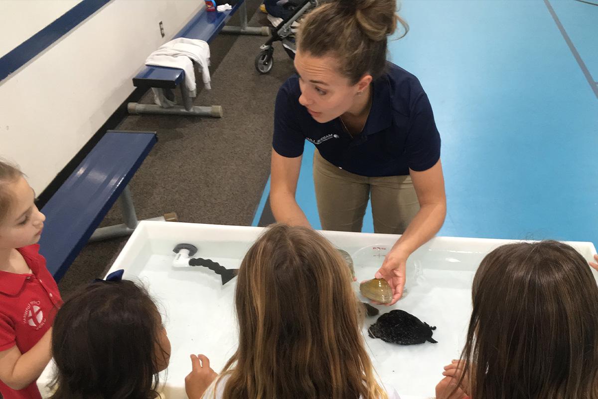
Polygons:
M138 224L127 184L157 142L155 132L108 130L83 162L48 200L39 252L56 281L90 240L125 236ZM124 224L97 228L119 200ZM151 220L176 220L166 214Z

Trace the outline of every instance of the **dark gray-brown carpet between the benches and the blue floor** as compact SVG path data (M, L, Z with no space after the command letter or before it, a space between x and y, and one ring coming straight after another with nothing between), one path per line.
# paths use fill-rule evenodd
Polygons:
M267 25L266 14L255 12L261 0L246 3L248 16L253 15L249 25ZM230 25L238 25L238 16ZM270 173L274 100L293 72L280 43L270 74L255 71L255 56L266 40L221 34L210 43L212 90L202 90L194 103L222 105L224 117L129 115L118 126L158 133L158 143L129 184L139 219L176 212L182 222L251 224ZM147 93L141 102L152 100ZM120 209L114 208L102 226L121 223ZM103 276L126 240L87 245L60 281L63 296Z

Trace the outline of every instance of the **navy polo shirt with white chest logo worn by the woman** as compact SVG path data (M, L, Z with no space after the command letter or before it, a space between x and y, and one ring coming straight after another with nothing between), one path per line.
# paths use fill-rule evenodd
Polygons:
M307 140L332 165L361 176L408 175L409 169L427 170L440 159L440 135L428 96L414 75L393 63L373 82L370 115L355 138L339 118L315 121L299 103L300 95L294 75L276 96L272 147L283 157L303 154Z

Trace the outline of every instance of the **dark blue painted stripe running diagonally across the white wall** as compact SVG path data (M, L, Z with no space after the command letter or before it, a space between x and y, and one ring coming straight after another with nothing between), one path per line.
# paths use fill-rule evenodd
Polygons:
M50 47L111 0L83 0L57 20L0 58L0 81Z

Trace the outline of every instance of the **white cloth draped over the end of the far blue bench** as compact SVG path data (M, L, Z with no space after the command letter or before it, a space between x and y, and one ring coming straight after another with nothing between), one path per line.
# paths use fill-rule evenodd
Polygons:
M210 46L207 42L197 39L177 38L163 45L149 54L145 65L169 66L170 68L180 68L185 71L185 86L190 92L191 97L197 95L195 83L195 71L193 62L202 67L203 84L206 89L210 87Z

